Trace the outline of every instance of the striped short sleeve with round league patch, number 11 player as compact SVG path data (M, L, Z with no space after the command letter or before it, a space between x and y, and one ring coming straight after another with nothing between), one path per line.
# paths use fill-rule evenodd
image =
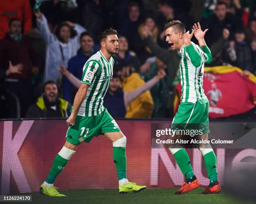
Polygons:
M83 76L81 82L84 84L92 85L93 79L100 72L101 66L96 60L87 61L83 68Z

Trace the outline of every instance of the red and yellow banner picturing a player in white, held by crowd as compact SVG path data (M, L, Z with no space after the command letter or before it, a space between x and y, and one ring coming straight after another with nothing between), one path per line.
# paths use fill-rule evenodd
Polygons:
M228 117L251 110L256 102L256 82L241 75L241 69L230 66L212 67L204 73L203 89L210 107L209 117ZM182 95L182 87L176 86L177 97ZM175 106L178 110L179 102Z

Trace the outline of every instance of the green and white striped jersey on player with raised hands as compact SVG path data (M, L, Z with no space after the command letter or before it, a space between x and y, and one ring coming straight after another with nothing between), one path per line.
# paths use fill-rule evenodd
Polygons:
M180 54L181 102L195 103L202 99L207 100L202 84L205 62L210 63L212 61L210 49L207 46L201 48L192 42L187 47L183 45Z

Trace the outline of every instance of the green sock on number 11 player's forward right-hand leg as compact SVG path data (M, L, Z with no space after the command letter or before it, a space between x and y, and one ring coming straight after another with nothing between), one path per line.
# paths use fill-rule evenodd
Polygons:
M118 172L118 180L127 179L125 147L113 147L113 159Z

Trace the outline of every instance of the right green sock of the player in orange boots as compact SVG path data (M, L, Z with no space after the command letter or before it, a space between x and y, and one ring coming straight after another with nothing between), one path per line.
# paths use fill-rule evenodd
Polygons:
M210 179L210 183L218 181L218 171L217 171L217 162L214 151L206 153L204 155L205 167L207 171L207 176Z

